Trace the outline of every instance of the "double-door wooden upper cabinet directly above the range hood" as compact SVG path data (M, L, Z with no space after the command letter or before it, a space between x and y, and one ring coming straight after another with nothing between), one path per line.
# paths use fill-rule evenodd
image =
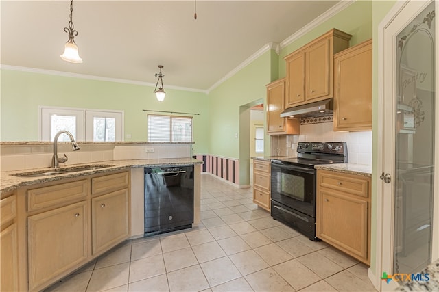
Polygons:
M331 29L287 55L285 107L333 97L333 54L349 47L350 34Z

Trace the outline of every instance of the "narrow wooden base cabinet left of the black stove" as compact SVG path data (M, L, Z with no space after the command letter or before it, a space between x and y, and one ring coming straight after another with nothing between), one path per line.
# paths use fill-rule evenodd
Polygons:
M259 207L271 209L271 174L270 161L254 159L253 161L253 202Z

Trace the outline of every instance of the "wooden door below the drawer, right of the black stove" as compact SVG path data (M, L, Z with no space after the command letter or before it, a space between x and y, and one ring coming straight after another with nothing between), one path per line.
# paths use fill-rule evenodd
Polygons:
M367 261L368 202L320 189L317 210L317 237Z

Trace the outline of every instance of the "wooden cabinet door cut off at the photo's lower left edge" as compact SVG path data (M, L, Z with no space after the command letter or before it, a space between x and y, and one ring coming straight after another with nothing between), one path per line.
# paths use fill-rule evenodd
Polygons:
M0 291L19 291L16 223L1 230L1 287Z

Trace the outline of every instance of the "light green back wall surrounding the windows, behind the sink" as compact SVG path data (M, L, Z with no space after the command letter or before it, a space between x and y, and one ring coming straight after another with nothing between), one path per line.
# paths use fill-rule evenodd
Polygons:
M123 110L125 134L131 134L126 141L147 141L142 109L150 109L200 114L193 116L193 153L208 153L207 95L167 89L165 101L159 102L153 91L143 85L1 70L1 141L38 140L39 105Z

